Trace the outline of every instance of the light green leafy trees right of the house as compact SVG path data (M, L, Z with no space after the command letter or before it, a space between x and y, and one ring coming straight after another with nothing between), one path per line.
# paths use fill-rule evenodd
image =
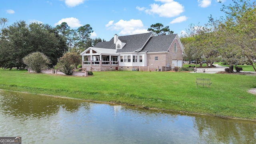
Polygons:
M206 62L226 62L233 72L234 65L249 64L256 72L256 2L232 0L223 5L225 17L209 16L208 24L190 24L180 38L184 45L184 56L188 61L196 60L200 66Z

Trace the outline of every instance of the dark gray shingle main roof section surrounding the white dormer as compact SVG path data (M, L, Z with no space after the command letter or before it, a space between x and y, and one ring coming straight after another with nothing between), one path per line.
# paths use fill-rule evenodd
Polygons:
M144 44L147 42L151 35L152 32L144 34L134 34L129 36L119 36L118 39L122 42L126 42L126 45L122 49L117 50L117 52L134 52L136 50L139 50L140 48L142 48L142 46L144 46ZM109 42L99 42L94 47L115 49L116 44L114 44L114 37Z

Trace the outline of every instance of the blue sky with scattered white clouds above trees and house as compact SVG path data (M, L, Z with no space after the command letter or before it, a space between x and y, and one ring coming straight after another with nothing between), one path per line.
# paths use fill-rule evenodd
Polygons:
M19 20L56 26L67 22L71 29L90 24L91 38L109 41L114 34L125 36L147 32L162 23L174 34L190 24L204 26L210 15L224 16L222 5L232 0L1 0L0 17L8 25Z

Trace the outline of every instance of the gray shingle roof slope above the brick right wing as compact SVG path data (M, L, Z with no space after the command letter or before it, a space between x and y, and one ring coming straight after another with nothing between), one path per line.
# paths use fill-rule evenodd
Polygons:
M151 37L141 52L167 52L177 34Z

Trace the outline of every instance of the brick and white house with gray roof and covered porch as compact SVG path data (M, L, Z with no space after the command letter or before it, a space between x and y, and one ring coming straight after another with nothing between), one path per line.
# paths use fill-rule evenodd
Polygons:
M171 70L183 66L184 48L178 34L154 36L152 32L118 36L99 42L82 55L82 68L91 71Z

